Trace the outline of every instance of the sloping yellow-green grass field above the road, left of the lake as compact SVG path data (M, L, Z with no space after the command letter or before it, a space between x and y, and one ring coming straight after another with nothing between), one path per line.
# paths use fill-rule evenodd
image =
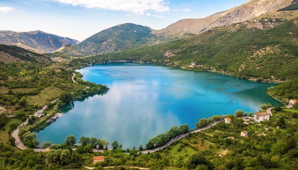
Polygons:
M42 89L40 93L35 96L26 96L26 99L30 105L33 105L34 103L45 105L52 99L57 98L61 92L63 92L63 90L54 86L49 86Z

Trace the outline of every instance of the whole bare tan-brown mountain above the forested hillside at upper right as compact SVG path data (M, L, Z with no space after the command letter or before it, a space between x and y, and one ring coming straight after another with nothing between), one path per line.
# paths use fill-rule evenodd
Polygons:
M292 1L293 0L250 0L243 5L215 13L206 18L182 19L162 30L154 30L153 32L159 37L166 38L182 36L185 33L198 34L201 31L206 31L213 27L235 24L275 12L288 6ZM293 7L290 9L292 8Z

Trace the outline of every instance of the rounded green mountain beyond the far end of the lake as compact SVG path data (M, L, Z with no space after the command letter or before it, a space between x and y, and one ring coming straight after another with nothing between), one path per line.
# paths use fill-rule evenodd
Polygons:
M125 48L139 47L155 39L156 35L152 33L151 28L126 23L105 29L77 45L61 48L58 52L74 55L103 54L121 51Z

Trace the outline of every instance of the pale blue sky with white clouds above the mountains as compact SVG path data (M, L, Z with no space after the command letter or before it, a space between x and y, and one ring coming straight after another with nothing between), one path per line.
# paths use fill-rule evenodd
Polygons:
M134 23L160 30L184 18L204 18L248 0L0 0L0 30L41 30L79 41Z

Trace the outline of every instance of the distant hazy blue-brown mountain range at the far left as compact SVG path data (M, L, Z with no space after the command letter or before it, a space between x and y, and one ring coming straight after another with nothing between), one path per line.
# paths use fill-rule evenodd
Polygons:
M0 31L0 44L15 45L37 53L51 53L66 44L78 43L77 40L39 30L21 33Z

